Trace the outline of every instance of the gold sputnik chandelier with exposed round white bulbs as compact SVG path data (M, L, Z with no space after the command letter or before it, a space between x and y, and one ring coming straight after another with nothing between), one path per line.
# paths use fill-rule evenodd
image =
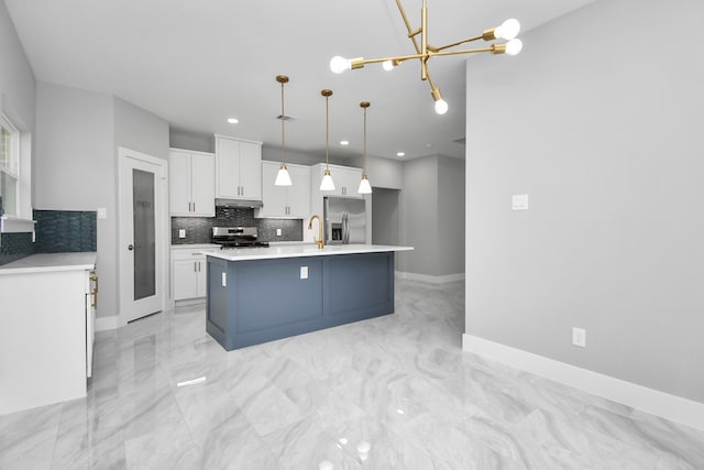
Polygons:
M408 22L408 18L406 17L406 12L404 11L404 7L400 3L400 0L396 0L396 4L398 6L398 11L406 24L406 30L408 31L408 39L414 44L414 48L416 50L415 54L409 55L398 55L395 57L380 57L380 58L367 58L364 57L355 57L355 58L344 58L340 56L332 57L330 61L330 69L336 74L341 74L344 70L350 70L353 68L362 68L366 64L376 64L383 63L385 70L392 70L395 67L402 65L404 62L417 58L420 61L420 79L428 80L430 85L430 95L435 100L435 110L438 114L444 114L448 112L448 102L442 99L442 95L440 95L440 90L436 86L432 77L430 76L430 72L428 70L428 62L432 57L446 56L446 55L458 55L458 54L473 54L479 52L490 52L492 54L508 54L516 55L520 52L524 44L520 40L516 39L518 33L520 32L520 23L518 20L506 20L501 26L491 28L488 30L484 30L484 32L476 36L470 37L463 41L458 41L455 43L446 44L440 47L432 46L428 44L428 8L427 0L422 0L422 9L420 11L420 28L413 29L410 28L410 23ZM420 34L420 44L418 44L417 36ZM477 47L471 50L457 50L454 47L470 43L473 41L495 41L495 40L505 40L505 43L495 43L487 47Z

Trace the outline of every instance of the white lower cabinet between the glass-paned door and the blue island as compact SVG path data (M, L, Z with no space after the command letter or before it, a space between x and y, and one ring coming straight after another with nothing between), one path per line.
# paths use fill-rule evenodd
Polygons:
M172 281L174 300L205 297L208 287L206 255L198 249L173 249Z

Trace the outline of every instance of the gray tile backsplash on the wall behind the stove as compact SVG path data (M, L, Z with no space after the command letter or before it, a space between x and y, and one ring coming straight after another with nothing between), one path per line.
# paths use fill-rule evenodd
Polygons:
M216 207L216 217L172 217L172 244L211 243L212 227L256 227L261 241L302 241L301 219L256 219L254 209ZM178 230L186 238L178 238ZM282 236L276 237L276 229Z

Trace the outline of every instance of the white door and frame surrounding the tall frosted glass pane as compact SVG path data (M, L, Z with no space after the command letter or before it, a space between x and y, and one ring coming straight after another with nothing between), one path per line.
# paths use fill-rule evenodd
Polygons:
M157 159L152 155L147 155L146 153L138 152L131 149L127 149L123 146L118 146L118 227L117 227L117 238L118 238L118 324L119 326L124 326L128 324L127 314L123 311L122 305L122 294L123 294L123 277L122 272L125 269L122 256L122 247L128 243L128 240L122 239L121 232L121 217L122 217L122 200L123 200L123 188L122 188L122 167L127 164L127 159L142 161L144 163L152 164L158 167L158 172L155 177L155 198L157 201L157 215L156 215L156 227L155 227L155 236L154 241L156 243L156 295L160 296L160 305L162 307L162 311L166 309L166 298L168 293L168 247L169 240L167 239L168 230L168 161L164 159Z

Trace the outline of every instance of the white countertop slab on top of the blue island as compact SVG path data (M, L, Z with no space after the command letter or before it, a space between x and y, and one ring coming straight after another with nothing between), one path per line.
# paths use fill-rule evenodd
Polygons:
M331 244L322 250L315 243L279 244L258 248L232 248L204 250L204 253L228 261L274 260L278 258L326 256L331 254L382 253L386 251L410 251L413 247L391 244Z

